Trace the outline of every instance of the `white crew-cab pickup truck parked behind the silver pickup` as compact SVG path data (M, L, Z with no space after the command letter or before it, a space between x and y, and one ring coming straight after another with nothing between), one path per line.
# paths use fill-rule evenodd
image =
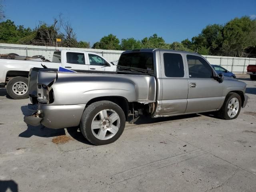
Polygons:
M53 54L52 62L0 59L0 87L14 99L28 98L28 74L30 68L116 71L116 66L99 54L85 51L60 50Z

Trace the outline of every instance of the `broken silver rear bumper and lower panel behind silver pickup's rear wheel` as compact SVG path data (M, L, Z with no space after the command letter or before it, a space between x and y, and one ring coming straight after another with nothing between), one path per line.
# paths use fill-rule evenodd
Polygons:
M24 117L24 122L32 126L40 124L52 128L60 129L78 126L84 112L86 104L77 105L28 105L28 109L34 113Z

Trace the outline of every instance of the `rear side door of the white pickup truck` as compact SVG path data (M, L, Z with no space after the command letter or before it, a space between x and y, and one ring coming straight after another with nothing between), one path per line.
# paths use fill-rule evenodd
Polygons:
M64 55L63 67L70 70L88 70L86 54L83 52L66 52Z

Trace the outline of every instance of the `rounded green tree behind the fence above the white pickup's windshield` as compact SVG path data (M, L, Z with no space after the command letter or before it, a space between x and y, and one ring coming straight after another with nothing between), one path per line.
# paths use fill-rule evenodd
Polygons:
M119 39L113 35L109 34L100 39L100 42L96 42L93 45L95 49L106 49L106 50L120 50Z

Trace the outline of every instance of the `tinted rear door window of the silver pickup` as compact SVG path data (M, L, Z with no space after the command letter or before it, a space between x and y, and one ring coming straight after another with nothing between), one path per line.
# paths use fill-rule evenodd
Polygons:
M164 73L166 77L184 77L181 54L164 53Z

